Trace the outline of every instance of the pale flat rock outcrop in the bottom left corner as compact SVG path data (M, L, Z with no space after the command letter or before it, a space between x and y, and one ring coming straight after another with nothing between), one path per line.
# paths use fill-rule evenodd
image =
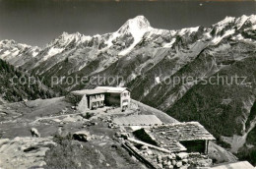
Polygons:
M44 155L50 138L15 138L0 140L0 168L40 168L45 165Z

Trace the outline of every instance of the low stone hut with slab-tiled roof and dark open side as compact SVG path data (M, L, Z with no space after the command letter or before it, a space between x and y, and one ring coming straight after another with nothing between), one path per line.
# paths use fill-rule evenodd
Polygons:
M209 141L215 140L198 122L154 126L149 129L141 129L134 134L142 141L147 139L145 141L150 141L149 143L154 142L154 144L172 152L186 150L188 152L202 152L207 154ZM179 143L179 146L173 146L173 142Z

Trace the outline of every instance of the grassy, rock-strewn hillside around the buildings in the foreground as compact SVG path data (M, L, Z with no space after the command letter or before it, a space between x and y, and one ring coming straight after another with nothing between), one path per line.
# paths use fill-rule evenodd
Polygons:
M58 97L3 104L0 112L0 167L4 169L147 168L122 146L116 134L126 131L117 127L112 119L139 113L156 115L164 123L176 122L137 101L133 101L132 108L126 112L111 107L81 112L64 97ZM31 128L35 128L41 138L32 138ZM214 142L209 151L217 163L236 161ZM150 155L162 166L164 155ZM178 157L174 166L185 166L179 161L182 160Z

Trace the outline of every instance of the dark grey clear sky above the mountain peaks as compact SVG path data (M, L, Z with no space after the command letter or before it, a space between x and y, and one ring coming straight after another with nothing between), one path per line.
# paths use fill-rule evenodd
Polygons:
M256 1L0 0L0 40L43 47L63 31L113 32L138 15L154 28L179 29L252 14Z

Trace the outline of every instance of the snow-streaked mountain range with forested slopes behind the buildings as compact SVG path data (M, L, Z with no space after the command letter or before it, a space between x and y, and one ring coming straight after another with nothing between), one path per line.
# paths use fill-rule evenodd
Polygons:
M43 48L2 40L0 59L48 85L58 77L66 91L128 86L134 99L179 121L199 121L239 154L256 152L255 49L255 15L174 30L152 28L138 16L101 35L63 32ZM76 76L89 79L65 83ZM106 81L113 77L122 81Z

